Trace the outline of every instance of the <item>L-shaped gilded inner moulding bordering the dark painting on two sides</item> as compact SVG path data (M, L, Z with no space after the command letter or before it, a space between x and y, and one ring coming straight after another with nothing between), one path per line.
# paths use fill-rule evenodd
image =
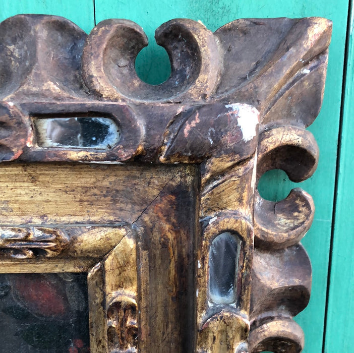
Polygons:
M65 228L81 228L79 236L69 240ZM132 307L134 317L127 327L126 337L133 337L126 342L126 348L134 349L137 346L137 240L135 230L125 226L90 226L42 228L27 227L1 227L0 247L5 241L11 241L11 249L47 249L48 241L43 242L42 234L36 241L33 239L33 229L45 229L48 234L65 236L61 242L62 247L56 248L56 253L47 258L25 259L19 253L12 254L13 258L0 259L0 273L58 273L58 272L84 272L87 273L89 320L90 320L90 349L93 352L111 351L119 339L116 337L121 330L122 322L117 322L114 305L124 305L124 310ZM21 229L22 233L18 230ZM9 239L9 231L17 237ZM95 243L92 239L95 239ZM19 245L16 244L16 241ZM112 246L113 245L113 246ZM135 255L134 255L135 254ZM121 260L121 263L116 262ZM117 281L119 277L119 281ZM122 285L124 283L124 285ZM125 323L124 323L125 324ZM132 332L132 329L134 332ZM107 333L110 333L107 335ZM128 334L129 333L129 334ZM103 339L104 338L104 339ZM108 346L110 346L108 349Z

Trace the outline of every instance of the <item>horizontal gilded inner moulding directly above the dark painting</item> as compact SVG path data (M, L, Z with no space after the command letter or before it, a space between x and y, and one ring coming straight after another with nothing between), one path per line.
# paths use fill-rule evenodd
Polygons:
M71 237L71 228L79 229L80 234ZM53 237L43 239L43 233L38 233L38 229L45 229L45 232ZM74 224L48 227L0 226L0 232L0 249L3 252L0 273L38 273L88 272L124 237L131 237L133 230L127 225L95 224L88 227ZM95 244L92 243L93 238ZM48 248L53 248L50 254ZM37 251L40 253L37 254Z

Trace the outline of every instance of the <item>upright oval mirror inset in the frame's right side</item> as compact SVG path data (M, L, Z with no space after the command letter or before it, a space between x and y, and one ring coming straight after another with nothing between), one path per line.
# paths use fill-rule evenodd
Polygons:
M235 302L240 238L230 232L219 234L209 251L209 298L212 303Z

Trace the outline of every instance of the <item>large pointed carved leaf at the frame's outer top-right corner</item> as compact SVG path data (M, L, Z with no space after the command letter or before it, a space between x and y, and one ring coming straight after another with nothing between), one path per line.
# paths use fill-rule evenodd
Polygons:
M219 28L224 71L215 96L254 105L263 124L309 126L322 104L331 33L332 22L317 17Z

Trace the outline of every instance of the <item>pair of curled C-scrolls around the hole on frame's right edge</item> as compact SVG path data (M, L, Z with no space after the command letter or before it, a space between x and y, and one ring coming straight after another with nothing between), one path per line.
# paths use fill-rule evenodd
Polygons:
M301 128L277 126L260 136L257 179L270 169L282 169L293 182L308 179L316 170L318 146L313 135ZM311 226L312 197L293 189L279 202L264 200L255 192L255 244L265 249L297 244Z

